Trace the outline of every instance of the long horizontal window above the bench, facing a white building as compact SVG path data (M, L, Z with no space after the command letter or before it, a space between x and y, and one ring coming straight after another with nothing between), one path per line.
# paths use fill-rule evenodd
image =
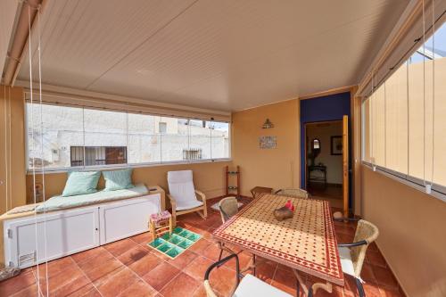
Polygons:
M27 119L29 169L230 157L226 122L38 103L27 103Z

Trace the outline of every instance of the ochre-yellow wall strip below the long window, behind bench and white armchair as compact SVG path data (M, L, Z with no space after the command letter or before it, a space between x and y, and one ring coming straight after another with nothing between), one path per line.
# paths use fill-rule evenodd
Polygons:
M230 161L216 161L195 164L182 165L162 165L154 167L140 167L133 170L133 182L144 183L146 186L158 185L168 191L167 172L172 170L194 171L195 188L206 194L206 197L214 198L225 193L225 167ZM42 175L38 174L36 182L41 182ZM46 173L45 174L45 196L51 197L55 194L61 194L67 180L66 172ZM103 188L103 177L99 181L98 188ZM32 201L32 175L27 176L27 194L29 202Z

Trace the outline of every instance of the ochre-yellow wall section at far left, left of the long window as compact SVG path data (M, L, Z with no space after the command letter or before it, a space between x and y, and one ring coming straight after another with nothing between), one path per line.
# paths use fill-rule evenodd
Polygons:
M23 117L23 89L0 86L0 213L26 202Z

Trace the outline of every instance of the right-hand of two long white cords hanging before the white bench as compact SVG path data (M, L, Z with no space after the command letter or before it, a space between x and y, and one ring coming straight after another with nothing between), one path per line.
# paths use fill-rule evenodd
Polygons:
M38 95L40 103L40 157L42 161L42 198L45 203L45 156L44 156L44 117L42 104L42 65L41 65L41 45L40 45L40 5L37 8L37 54L38 54ZM48 245L46 241L46 211L44 210L44 246L45 246L45 279L46 279L46 296L49 294L49 278L48 278Z

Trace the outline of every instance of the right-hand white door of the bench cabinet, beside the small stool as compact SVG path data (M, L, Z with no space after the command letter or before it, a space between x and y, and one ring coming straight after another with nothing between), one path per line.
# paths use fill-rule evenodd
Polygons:
M149 230L149 216L161 211L161 194L101 205L101 245Z

